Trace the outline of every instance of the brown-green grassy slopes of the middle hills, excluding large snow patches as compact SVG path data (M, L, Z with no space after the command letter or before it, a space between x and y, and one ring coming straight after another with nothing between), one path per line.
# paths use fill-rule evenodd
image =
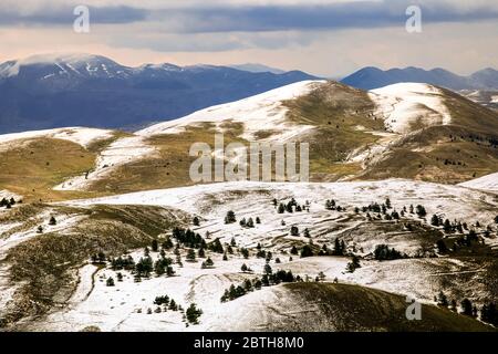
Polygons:
M282 102L288 124L313 127L292 138L310 144L313 181L400 177L458 184L498 170L498 114L455 93L442 91L452 114L450 125L416 121L411 133L403 135L386 133L384 118L366 92L335 82L314 87ZM277 126L251 133L258 140L271 139L281 133ZM178 134L145 137L144 144L155 148L155 154L132 154L124 164L108 167L103 178L91 180L87 192L52 188L92 171L97 155L116 138L127 136L125 133L86 149L49 138L18 142L9 150L0 149L0 189L22 195L28 201L50 201L191 185L191 144L203 142L214 147L215 134L224 132L226 145L249 145L241 137L246 129L243 123L227 118L218 127L203 122Z

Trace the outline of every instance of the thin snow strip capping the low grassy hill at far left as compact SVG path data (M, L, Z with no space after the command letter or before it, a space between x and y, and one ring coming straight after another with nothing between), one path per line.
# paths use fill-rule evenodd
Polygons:
M113 131L85 128L85 127L68 127L45 131L32 131L24 133L12 133L0 135L0 148L8 146L15 140L33 139L33 138L53 138L63 139L75 143L83 147L89 147L92 143L103 140L113 136Z

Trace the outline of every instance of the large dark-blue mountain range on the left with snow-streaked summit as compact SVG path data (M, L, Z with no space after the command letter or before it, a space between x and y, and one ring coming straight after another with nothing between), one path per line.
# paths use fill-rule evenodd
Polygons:
M75 125L135 128L317 79L300 71L259 69L128 67L87 54L8 61L0 64L0 133Z

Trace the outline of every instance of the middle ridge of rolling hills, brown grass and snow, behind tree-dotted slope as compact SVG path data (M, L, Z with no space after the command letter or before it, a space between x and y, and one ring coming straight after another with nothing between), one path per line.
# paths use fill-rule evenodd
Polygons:
M65 128L0 136L0 188L46 201L190 185L190 145L212 146L221 132L225 144L309 143L312 181L458 184L498 170L498 114L458 94L417 83L364 92L303 81L135 133ZM79 158L60 159L61 150ZM18 158L9 157L12 152Z

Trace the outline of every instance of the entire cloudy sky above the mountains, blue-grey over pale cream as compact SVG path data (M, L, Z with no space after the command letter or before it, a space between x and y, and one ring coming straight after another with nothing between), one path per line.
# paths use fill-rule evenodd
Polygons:
M91 32L73 31L77 4ZM406 8L423 32L407 33ZM497 0L1 0L0 61L85 52L120 63L263 63L332 77L363 66L498 69Z

